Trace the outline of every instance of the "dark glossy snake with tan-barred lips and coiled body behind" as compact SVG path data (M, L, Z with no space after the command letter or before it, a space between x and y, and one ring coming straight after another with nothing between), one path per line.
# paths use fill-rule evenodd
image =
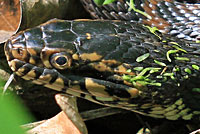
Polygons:
M53 19L6 42L17 76L154 118L199 117L199 4L82 3L97 20Z

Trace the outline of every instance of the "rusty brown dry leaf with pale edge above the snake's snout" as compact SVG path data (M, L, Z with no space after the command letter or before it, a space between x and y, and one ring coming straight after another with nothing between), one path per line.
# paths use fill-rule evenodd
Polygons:
M0 0L0 43L16 33L20 21L20 0Z

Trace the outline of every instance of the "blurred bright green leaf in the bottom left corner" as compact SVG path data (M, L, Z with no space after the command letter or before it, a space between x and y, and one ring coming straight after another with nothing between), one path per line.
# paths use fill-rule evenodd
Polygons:
M32 117L27 114L18 98L14 95L0 94L0 109L0 133L24 134L25 131L20 125L31 122Z

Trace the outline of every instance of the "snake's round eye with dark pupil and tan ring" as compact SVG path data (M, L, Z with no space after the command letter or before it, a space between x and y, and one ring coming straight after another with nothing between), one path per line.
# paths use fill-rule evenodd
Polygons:
M51 56L50 62L57 69L66 69L71 66L72 58L66 52L55 53Z

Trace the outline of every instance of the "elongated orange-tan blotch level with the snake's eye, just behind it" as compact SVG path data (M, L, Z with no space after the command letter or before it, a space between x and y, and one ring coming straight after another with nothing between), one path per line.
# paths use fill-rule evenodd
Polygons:
M80 58L82 60L97 61L100 60L102 56L98 55L97 53L83 53L80 55Z

